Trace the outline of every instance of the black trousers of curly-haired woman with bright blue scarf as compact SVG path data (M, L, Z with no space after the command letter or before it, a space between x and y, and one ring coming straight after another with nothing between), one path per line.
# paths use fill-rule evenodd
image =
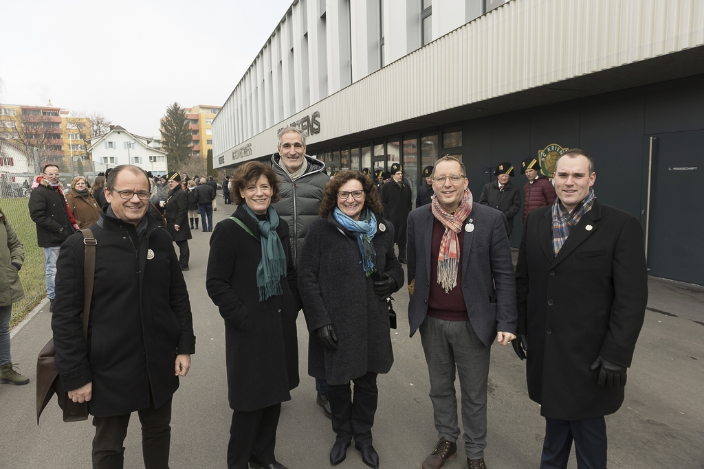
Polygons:
M372 426L379 399L377 373L367 373L352 382L354 397L350 383L327 383L327 400L332 410L332 430L339 442L346 443L354 437L357 446L369 446L372 444Z

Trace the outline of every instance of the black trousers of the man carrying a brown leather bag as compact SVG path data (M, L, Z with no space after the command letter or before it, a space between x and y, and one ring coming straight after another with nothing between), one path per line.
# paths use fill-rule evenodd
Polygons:
M171 399L158 409L154 403L137 411L142 423L142 454L146 469L168 469L171 444ZM113 417L94 417L93 468L122 469L130 413Z

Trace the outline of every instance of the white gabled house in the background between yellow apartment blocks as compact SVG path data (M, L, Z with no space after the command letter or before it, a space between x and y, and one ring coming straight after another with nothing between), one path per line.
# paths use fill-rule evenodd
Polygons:
M137 165L154 176L167 172L166 153L151 146L153 139L132 134L119 125L111 125L107 134L89 141L96 174L118 165Z

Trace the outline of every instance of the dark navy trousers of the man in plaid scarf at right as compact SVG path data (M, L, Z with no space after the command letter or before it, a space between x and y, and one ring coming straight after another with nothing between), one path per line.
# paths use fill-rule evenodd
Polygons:
M578 469L606 468L606 421L603 417L582 420L546 417L541 469L567 468L573 439Z

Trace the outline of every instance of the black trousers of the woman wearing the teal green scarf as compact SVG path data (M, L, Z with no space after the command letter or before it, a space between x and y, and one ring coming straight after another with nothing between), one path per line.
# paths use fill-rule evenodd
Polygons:
M281 404L252 412L232 411L227 469L246 469L247 463L268 466L276 461L276 429Z

